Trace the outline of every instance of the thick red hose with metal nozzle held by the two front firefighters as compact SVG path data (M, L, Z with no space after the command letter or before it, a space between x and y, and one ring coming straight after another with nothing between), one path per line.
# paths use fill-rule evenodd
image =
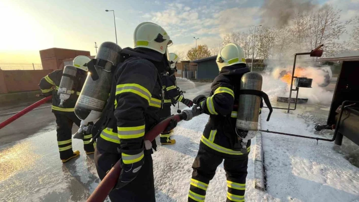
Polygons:
M192 117L201 114L200 110L196 109L194 106L192 110L185 110L180 114L172 115L161 123L153 127L149 132L145 134L145 140L153 141L160 133L162 133L168 126L171 119L176 119L177 122L181 120L191 120ZM121 163L117 161L114 167L106 174L100 184L96 187L95 191L87 199L87 202L99 202L104 201L114 188L117 183L117 180L121 173Z

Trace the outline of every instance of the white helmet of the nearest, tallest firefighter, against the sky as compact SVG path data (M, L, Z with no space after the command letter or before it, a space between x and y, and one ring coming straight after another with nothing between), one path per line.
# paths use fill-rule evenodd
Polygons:
M172 45L167 32L152 22L142 22L133 33L134 47L147 48L165 54L167 47Z

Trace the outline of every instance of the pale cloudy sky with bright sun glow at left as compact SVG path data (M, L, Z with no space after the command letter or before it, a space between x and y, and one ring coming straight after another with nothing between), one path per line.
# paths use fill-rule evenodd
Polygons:
M0 0L0 63L40 63L39 50L66 48L90 51L106 41L133 47L133 31L155 22L170 35L170 52L186 53L197 44L209 48L226 33L261 24L265 0ZM298 0L295 0L298 1ZM342 19L359 13L359 0L316 0L342 9Z

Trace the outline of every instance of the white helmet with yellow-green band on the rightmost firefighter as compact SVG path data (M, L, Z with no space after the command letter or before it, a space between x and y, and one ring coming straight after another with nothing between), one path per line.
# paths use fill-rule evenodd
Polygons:
M220 53L217 56L216 62L220 71L225 66L245 63L243 49L238 44L227 44L221 49Z

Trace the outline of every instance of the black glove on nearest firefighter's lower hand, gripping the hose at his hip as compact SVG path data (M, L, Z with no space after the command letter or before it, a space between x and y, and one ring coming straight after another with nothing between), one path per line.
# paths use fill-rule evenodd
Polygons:
M145 163L143 159L133 164L124 164L122 158L120 160L122 170L114 189L121 189L134 180L137 177L139 170Z

